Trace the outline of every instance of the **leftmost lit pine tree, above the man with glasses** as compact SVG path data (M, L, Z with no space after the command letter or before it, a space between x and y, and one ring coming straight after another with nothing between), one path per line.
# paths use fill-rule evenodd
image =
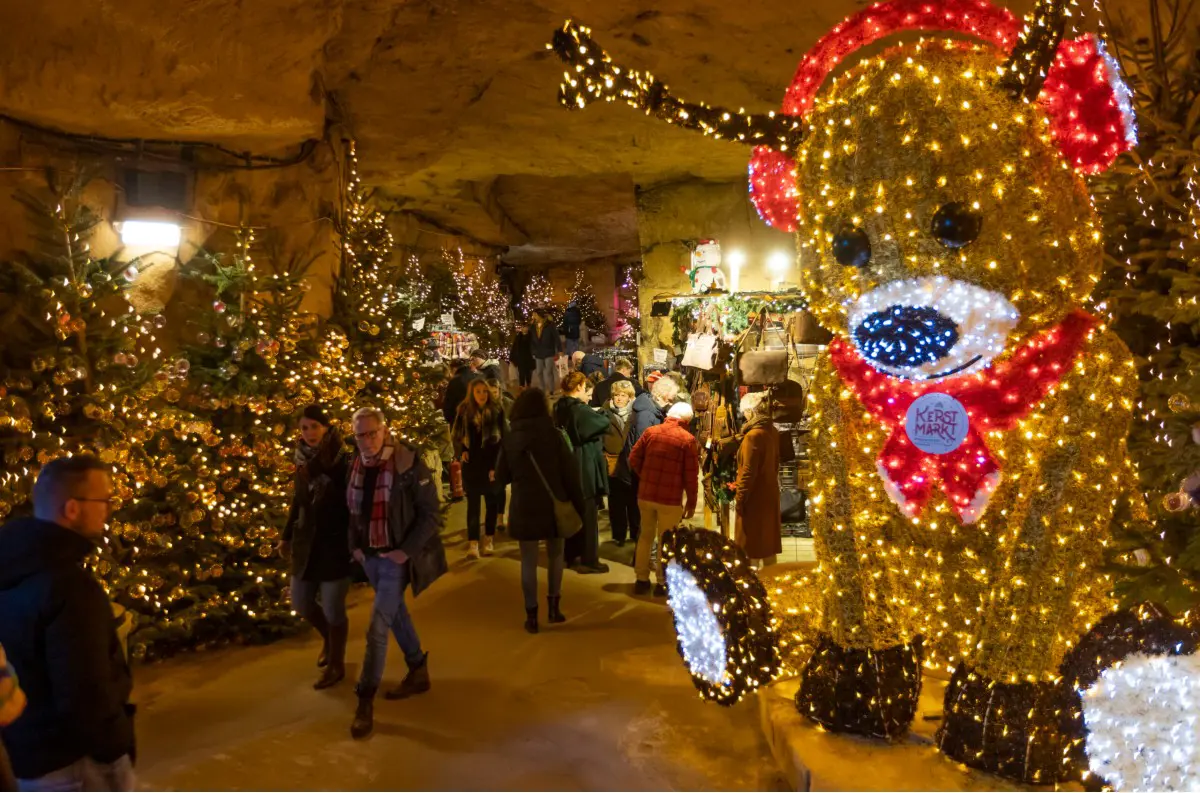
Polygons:
M101 216L83 200L86 174L47 173L41 194L18 194L36 250L0 268L0 518L31 510L37 470L59 456L92 453L113 465L127 515L146 483L166 482L146 447L163 415L158 395L186 373L162 359L161 316L125 298L137 264L97 258L89 239ZM97 561L113 569L110 559Z

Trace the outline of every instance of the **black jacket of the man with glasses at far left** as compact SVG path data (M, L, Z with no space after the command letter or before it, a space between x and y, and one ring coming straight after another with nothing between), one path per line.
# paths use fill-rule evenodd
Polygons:
M0 644L29 704L0 731L18 779L133 753L133 680L92 545L48 521L0 528Z

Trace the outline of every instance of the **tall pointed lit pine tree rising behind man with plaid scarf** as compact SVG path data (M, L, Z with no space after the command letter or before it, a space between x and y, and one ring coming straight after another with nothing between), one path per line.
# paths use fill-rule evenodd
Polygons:
M304 377L332 415L344 420L362 405L378 407L398 439L425 449L442 432L424 362L424 328L437 308L437 290L419 262L394 260L388 216L372 206L359 180L353 143L348 160L334 314L320 334L320 362Z

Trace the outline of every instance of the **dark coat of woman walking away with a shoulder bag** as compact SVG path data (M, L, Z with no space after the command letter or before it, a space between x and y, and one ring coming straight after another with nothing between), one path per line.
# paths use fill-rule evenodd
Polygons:
M550 540L557 536L554 503L529 462L530 456L538 461L554 498L571 501L583 515L580 467L548 416L517 419L504 438L496 481L512 485L509 533L514 540Z

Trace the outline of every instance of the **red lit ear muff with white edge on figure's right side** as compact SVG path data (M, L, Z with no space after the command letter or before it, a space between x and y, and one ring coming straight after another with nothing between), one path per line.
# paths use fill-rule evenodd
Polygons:
M1102 173L1138 145L1132 92L1096 36L1058 47L1038 103L1050 118L1058 151L1081 173Z

